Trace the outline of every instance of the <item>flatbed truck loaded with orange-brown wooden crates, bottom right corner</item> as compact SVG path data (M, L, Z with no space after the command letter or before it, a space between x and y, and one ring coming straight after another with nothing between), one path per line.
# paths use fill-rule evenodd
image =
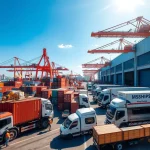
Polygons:
M97 150L123 150L143 140L150 140L150 124L125 128L114 124L93 127L93 144Z

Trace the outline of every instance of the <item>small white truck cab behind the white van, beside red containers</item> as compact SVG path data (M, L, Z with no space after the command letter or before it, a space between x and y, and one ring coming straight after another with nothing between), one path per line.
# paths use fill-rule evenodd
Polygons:
M90 101L86 94L79 94L79 105L80 105L80 108L90 107Z

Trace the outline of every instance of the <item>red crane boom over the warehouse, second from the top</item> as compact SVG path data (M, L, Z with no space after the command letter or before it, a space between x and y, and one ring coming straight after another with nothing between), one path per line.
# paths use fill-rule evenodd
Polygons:
M117 49L109 49L109 48L106 49L106 47L112 46L112 45L117 44L117 43L119 43ZM129 52L135 52L132 48L133 48L133 43L125 40L124 38L121 38L121 39L116 40L114 42L111 42L109 44L98 47L96 49L89 50L88 53L95 54L95 53L129 53Z

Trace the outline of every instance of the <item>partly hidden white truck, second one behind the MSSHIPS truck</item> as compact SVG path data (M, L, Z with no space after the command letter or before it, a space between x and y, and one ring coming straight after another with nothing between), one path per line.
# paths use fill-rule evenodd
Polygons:
M99 87L97 87L94 91L93 91L93 101L97 102L99 94L101 93L102 90L107 89L107 88L111 88L111 87L122 87L122 85L100 85Z

